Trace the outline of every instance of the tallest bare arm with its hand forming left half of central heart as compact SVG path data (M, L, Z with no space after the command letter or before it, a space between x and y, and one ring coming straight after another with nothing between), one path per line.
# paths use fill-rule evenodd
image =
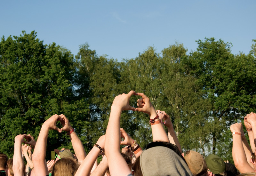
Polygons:
M131 173L120 153L120 118L123 110L136 110L129 104L130 97L133 94L135 94L135 91L116 96L111 106L105 141L105 155L108 158L108 168L111 175L128 175Z

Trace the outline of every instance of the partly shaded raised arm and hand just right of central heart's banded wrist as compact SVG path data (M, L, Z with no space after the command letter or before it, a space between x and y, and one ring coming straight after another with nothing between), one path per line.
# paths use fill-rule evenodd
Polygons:
M176 136L176 133L174 131L170 116L165 111L157 110L156 112L157 112L157 115L159 116L160 120L164 121L164 125L167 126L168 138L169 138L170 142L172 144L176 145L179 148L180 153L182 153L181 147L180 147L180 142L179 142L179 140Z

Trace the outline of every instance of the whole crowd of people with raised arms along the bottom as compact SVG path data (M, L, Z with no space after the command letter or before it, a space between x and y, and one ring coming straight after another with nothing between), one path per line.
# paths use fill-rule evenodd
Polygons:
M129 104L132 95L140 96L138 108ZM120 127L124 110L149 115L153 142L144 151ZM61 129L56 126L57 121L62 124ZM163 125L167 126L168 134ZM230 126L234 164L213 154L204 158L193 150L182 152L170 116L164 111L155 110L145 94L131 91L115 97L106 134L99 138L87 155L68 118L55 114L44 122L37 141L30 134L20 134L14 140L13 158L8 159L0 153L0 175L256 175L256 114L247 114L244 125L251 148L245 139L243 125L236 123ZM46 162L49 130L66 131L75 154L66 148L55 149L56 159ZM121 151L120 145L125 145ZM34 148L33 153L31 148ZM100 155L102 161L98 164ZM24 164L24 157L27 165Z

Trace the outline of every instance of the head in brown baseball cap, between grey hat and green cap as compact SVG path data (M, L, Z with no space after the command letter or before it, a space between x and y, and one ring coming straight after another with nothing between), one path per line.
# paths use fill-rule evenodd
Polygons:
M200 153L188 150L183 155L193 175L204 175L207 173L208 168L206 162Z

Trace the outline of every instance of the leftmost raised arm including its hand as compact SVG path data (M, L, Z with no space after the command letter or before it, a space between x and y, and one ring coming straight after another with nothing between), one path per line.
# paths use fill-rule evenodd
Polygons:
M21 155L21 145L26 134L20 134L14 139L14 154L12 170L14 175L23 175L23 157Z

